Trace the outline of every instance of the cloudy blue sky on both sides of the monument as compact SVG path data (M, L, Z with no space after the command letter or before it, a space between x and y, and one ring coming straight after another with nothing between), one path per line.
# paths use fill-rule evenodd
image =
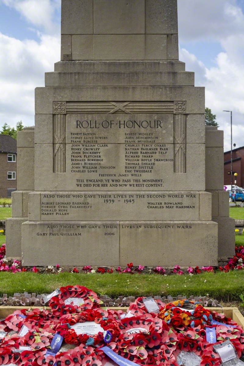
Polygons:
M0 127L34 124L34 88L60 60L61 0L0 0ZM180 60L206 87L230 149L244 145L244 0L178 0Z

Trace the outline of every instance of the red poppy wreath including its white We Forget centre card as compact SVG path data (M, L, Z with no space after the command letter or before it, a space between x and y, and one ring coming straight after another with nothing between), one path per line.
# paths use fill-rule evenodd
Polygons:
M87 310L66 317L56 328L68 344L97 346L117 339L120 330L117 322L104 310Z

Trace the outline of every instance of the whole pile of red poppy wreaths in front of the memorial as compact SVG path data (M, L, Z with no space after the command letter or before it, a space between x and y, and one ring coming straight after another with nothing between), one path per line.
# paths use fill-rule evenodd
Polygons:
M110 354L128 365L178 366L194 357L200 366L218 366L213 346L226 340L244 357L244 318L237 310L225 316L185 299L165 304L141 297L125 314L102 308L97 294L79 285L60 288L49 305L18 309L0 321L6 333L0 333L0 365L102 366Z

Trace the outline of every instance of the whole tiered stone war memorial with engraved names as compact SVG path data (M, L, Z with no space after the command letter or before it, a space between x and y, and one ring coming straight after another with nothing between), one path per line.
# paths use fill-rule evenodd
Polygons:
M187 21L187 20L186 20ZM61 61L18 132L6 254L23 266L234 255L223 131L179 61L177 0L62 0Z

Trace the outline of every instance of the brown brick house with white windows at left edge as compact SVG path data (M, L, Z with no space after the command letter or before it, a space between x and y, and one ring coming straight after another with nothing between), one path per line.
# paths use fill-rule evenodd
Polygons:
M17 142L0 135L0 197L11 197L17 189Z

